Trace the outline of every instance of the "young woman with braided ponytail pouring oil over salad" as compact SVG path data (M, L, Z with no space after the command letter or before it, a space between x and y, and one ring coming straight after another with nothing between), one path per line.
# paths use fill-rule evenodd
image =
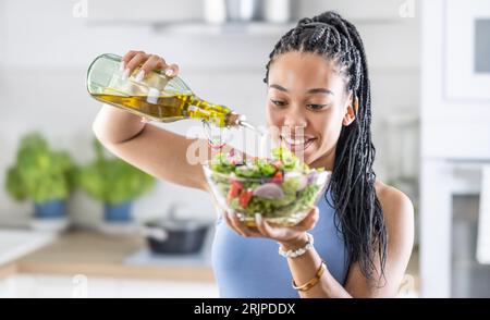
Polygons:
M179 72L176 64L143 51L130 51L123 62L126 73L139 65L146 74ZM223 212L212 250L220 295L395 296L412 253L414 209L372 169L368 65L356 28L334 12L301 20L272 50L265 82L268 125L286 128L275 138L303 148L305 162L332 171L332 177L318 207L296 226L270 225L257 214L258 226L246 227L234 212ZM208 190L203 168L185 158L194 140L107 106L94 132L135 167Z

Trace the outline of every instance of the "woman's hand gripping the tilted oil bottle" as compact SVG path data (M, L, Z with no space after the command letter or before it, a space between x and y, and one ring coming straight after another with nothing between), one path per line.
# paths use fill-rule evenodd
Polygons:
M166 60L157 54L146 53L145 51L131 50L122 58L121 69L124 70L123 77L127 78L133 71L140 66L136 81L142 81L151 71L164 71L167 76L176 76L179 65L168 64Z

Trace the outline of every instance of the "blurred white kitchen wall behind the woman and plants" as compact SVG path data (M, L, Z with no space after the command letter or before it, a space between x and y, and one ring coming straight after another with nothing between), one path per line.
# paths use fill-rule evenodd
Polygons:
M30 212L27 204L15 204L3 192L4 171L15 157L21 134L42 130L54 146L68 148L79 163L91 159L90 124L99 103L86 94L84 77L88 63L101 52L143 49L162 54L168 61L181 64L182 76L199 96L231 106L257 124L264 122L266 88L261 79L267 57L282 32L265 35L156 33L144 24L98 25L73 17L74 3L76 1L62 0L0 2L1 220L27 217ZM321 1L315 3L316 8L303 8L299 12L330 9ZM339 3L344 5L345 2L333 2ZM393 5L392 10L396 9ZM375 13L371 10L368 20L362 20L356 13L354 17L358 22L354 23L364 37L371 71L373 136L378 147L376 168L380 177L390 179L385 170L391 153L384 116L417 110L418 16L401 19L383 10L385 7L378 13L384 20L372 20L376 10ZM185 132L192 124L181 122L166 127ZM416 163L417 152L416 147L408 152L413 155L413 163ZM407 171L416 174L418 167L414 164ZM206 194L161 182L151 194L137 201L136 216L164 212L173 200L185 201L197 214L209 218L213 214ZM75 221L82 224L91 225L100 219L100 206L83 195L76 195L70 208Z

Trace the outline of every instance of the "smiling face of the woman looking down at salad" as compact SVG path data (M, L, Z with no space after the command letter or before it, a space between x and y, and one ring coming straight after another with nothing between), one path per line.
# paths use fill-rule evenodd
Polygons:
M341 128L354 120L345 81L333 63L309 52L277 56L269 69L266 109L275 143L313 168L333 168Z

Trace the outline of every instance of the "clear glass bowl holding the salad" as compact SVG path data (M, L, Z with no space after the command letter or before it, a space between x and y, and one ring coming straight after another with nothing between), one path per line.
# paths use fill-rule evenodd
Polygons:
M296 225L316 205L331 176L330 171L310 170L285 172L282 180L252 179L217 172L209 164L203 168L218 205L234 211L247 226L255 226L255 213L275 225Z

